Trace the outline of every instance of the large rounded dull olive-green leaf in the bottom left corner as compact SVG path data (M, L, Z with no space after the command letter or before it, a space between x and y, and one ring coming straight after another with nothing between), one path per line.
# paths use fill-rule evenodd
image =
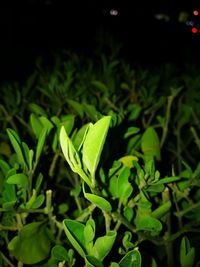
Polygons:
M50 252L50 240L44 223L25 225L8 244L8 249L18 261L36 264L46 259Z

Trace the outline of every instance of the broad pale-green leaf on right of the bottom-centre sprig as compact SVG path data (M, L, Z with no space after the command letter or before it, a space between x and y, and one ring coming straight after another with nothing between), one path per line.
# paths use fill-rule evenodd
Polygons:
M102 261L112 249L117 232L110 231L105 236L97 238L93 246L93 255Z

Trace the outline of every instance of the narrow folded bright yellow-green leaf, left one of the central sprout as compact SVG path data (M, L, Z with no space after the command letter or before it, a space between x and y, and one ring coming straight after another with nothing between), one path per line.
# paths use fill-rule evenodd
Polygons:
M68 137L64 126L62 126L60 130L60 145L61 145L62 152L65 156L65 159L70 165L70 168L72 169L72 171L78 173L81 176L81 178L89 185L89 187L91 187L91 182L89 178L86 176L86 174L82 170L82 164L79 158L79 154L76 151L72 141Z

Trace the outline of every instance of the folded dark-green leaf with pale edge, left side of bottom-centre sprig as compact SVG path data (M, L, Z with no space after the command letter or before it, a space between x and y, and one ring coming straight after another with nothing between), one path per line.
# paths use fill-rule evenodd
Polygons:
M63 221L63 226L69 241L77 252L84 258L86 256L84 224L70 219L65 219Z

